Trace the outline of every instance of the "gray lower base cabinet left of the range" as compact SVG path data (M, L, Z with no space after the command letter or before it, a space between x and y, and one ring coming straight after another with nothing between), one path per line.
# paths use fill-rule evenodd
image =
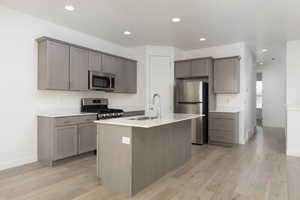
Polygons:
M38 116L38 160L54 161L96 150L96 115Z

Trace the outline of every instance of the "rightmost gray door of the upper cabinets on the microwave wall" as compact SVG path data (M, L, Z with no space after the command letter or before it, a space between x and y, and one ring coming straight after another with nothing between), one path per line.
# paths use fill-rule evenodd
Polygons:
M125 60L124 75L122 78L122 91L125 93L137 92L137 63L130 60Z

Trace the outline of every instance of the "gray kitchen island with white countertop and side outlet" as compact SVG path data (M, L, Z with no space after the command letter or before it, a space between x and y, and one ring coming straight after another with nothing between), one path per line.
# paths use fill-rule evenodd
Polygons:
M130 196L191 158L194 114L161 119L129 117L97 123L97 176L104 187Z

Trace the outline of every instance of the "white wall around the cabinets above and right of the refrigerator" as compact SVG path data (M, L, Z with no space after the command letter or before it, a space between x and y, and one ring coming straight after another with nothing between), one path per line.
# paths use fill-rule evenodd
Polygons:
M183 52L179 59L240 56L240 94L218 94L217 107L238 108L240 112L239 143L244 144L254 132L255 122L255 59L243 43L209 47ZM177 58L176 58L177 59ZM179 60L177 59L177 60Z

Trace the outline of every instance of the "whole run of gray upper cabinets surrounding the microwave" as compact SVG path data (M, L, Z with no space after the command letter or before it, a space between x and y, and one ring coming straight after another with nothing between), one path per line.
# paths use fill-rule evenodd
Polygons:
M115 74L115 91L136 93L137 62L48 37L38 41L38 89L87 91L89 70Z

